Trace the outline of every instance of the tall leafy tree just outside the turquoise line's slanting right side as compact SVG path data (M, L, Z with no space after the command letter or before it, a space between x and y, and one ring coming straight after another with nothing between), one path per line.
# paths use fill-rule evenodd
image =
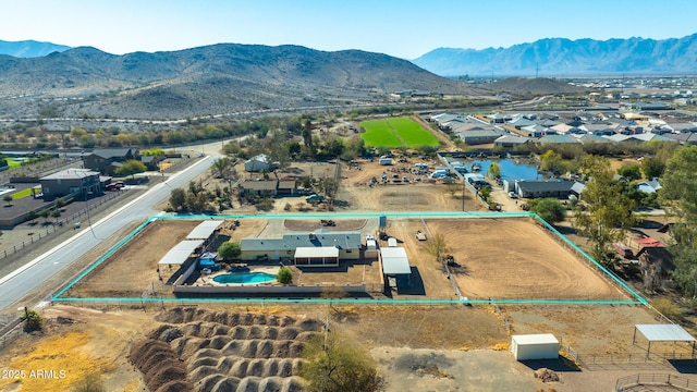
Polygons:
M586 156L582 161L584 173L591 179L586 183L583 200L587 210L576 210L574 225L592 243L591 256L602 264L611 264L611 246L624 236L624 230L634 223L634 203L622 194L621 185L606 158Z

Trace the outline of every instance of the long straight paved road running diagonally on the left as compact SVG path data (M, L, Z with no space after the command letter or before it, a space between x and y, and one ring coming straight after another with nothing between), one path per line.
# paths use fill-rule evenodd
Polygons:
M206 147L208 151L213 150L212 145ZM220 148L220 145L217 144L217 147ZM188 184L208 170L217 157L217 154L207 156L184 171L170 176L166 182L152 186L138 198L98 222L93 222L91 229L88 222L83 222L83 229L73 237L0 279L0 310L5 310L10 305L29 294L119 229L134 221L144 221L158 212L154 210L158 203L169 197L172 189Z

